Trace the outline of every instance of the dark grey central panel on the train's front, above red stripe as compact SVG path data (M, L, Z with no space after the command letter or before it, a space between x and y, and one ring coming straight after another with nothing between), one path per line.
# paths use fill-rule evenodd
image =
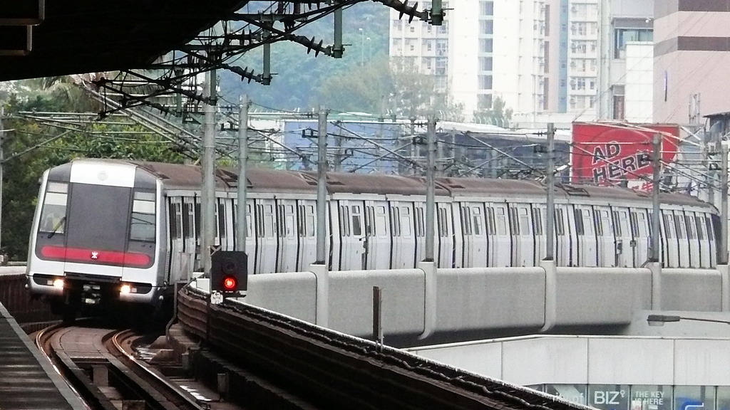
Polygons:
M72 184L66 247L124 252L131 187Z

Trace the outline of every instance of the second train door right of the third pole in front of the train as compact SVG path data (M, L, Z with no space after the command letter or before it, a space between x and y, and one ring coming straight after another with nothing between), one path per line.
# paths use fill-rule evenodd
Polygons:
M388 269L391 264L391 229L385 201L365 201L364 269Z

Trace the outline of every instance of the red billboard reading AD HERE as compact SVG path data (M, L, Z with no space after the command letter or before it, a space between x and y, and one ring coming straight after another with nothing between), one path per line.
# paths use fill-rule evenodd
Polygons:
M657 131L662 136L662 161L674 161L679 125L573 123L573 182L616 185L628 180L629 187L646 189L642 177L651 177L653 172L652 141Z

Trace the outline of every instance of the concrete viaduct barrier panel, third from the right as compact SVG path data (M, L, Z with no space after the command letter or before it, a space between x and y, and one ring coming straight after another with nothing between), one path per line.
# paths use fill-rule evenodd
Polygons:
M439 269L436 309L436 332L540 328L545 322L545 270Z

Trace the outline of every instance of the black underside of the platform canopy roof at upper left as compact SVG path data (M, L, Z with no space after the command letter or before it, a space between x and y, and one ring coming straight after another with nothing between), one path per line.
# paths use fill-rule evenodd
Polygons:
M0 81L143 68L248 2L35 1L2 1ZM42 20L28 18L38 12ZM28 53L22 52L28 31L23 24L31 27Z

